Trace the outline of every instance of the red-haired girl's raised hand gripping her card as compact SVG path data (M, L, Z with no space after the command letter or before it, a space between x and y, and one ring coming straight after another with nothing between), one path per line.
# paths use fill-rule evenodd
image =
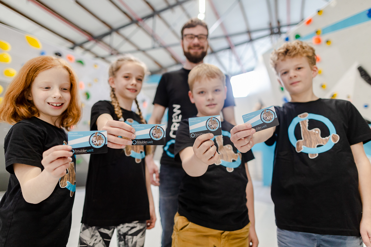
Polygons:
M69 167L69 162L72 162L71 149L72 147L68 145L58 145L46 150L41 161L44 171L53 178L63 177Z

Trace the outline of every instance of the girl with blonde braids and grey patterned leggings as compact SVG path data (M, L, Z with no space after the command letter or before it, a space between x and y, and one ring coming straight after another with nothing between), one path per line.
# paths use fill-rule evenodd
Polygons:
M111 101L98 101L91 110L91 130L106 130L108 152L91 154L79 246L109 246L114 230L118 246L144 246L145 230L156 216L145 148L131 146L132 123L145 123L136 99L147 73L131 55L109 66ZM138 114L131 111L133 101ZM122 137L122 138L121 138Z

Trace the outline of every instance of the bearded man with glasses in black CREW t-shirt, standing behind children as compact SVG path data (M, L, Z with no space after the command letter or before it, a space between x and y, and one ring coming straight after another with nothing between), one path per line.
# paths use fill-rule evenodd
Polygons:
M178 194L184 170L180 160L174 159L175 135L182 119L193 117L197 109L191 103L188 91L188 74L197 64L203 63L207 54L209 35L204 21L192 18L184 24L181 30L185 64L182 69L162 75L158 83L153 101L154 109L148 123L160 124L166 108L168 108L168 124L166 129L166 145L161 157L161 173L153 162L153 155L146 156L146 163L150 172L151 183L160 185L160 216L162 225L162 247L171 246L174 216L178 210ZM229 123L236 125L234 120L234 98L229 77L226 77L227 99L222 110L223 117ZM153 178L155 174L156 179ZM161 184L160 184L161 181Z

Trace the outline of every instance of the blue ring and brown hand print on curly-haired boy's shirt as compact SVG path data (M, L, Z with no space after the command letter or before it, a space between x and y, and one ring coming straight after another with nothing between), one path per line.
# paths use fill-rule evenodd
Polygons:
M318 120L324 123L329 129L330 135L322 138L321 130L319 128L309 130L309 119ZM302 140L296 140L295 137L294 131L297 124L300 124L301 127ZM295 117L288 128L288 135L290 143L295 147L296 152L307 153L309 158L315 158L319 153L324 153L330 150L334 144L340 140L339 135L336 134L334 124L332 124L328 118L312 113L303 113Z

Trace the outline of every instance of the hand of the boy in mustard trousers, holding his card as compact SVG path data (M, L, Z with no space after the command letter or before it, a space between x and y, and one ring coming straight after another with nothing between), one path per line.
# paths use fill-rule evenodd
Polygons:
M216 151L213 138L213 134L203 134L196 138L193 144L193 152L196 157L207 165L212 165L219 159L219 154Z

